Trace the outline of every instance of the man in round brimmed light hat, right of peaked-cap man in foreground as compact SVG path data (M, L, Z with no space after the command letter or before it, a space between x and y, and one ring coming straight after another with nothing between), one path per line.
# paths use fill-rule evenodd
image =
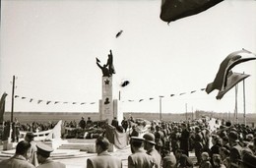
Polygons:
M147 133L143 136L144 138L144 149L147 150L147 153L155 159L156 168L160 168L161 156L159 151L155 148L155 136L152 133Z

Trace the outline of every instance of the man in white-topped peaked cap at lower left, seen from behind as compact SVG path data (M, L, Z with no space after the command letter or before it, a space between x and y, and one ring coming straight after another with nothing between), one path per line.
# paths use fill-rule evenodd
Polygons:
M40 164L36 168L66 168L66 165L60 162L53 161L50 159L50 153L53 148L42 142L36 144L37 147L37 160Z

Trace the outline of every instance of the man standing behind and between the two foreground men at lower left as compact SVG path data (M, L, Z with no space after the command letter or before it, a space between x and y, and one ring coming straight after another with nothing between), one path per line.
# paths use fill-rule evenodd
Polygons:
M24 140L30 142L32 144L32 152L31 152L31 157L29 158L29 162L32 163L32 165L34 165L35 167L38 166L38 161L37 161L37 156L36 156L36 151L37 151L37 147L36 147L36 142L33 140L34 135L32 132L29 132L26 134Z

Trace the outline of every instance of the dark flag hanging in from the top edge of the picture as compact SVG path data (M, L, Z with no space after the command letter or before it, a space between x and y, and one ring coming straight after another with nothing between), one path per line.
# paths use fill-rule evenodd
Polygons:
M161 0L160 19L172 21L199 14L224 0Z

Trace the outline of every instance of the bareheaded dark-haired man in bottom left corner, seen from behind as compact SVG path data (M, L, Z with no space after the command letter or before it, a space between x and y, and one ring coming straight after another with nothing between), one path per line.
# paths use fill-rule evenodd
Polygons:
M1 168L35 168L32 163L28 161L31 156L32 144L26 140L21 140L17 146L13 157L2 160L0 162Z

